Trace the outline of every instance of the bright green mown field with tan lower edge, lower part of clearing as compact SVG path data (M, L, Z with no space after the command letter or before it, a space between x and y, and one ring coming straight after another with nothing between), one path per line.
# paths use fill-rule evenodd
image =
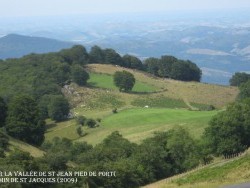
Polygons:
M186 127L193 137L198 138L209 120L217 111L189 111L186 109L135 108L119 111L104 117L97 128L84 128L84 137L76 134L75 121L61 123L46 133L47 139L65 136L72 140L86 141L90 144L101 142L113 131L119 131L132 142L140 142L154 132L167 131L174 126Z

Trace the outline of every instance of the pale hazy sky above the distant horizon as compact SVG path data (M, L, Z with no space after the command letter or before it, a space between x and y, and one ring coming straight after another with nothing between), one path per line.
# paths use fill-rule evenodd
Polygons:
M250 8L250 0L0 0L0 17Z

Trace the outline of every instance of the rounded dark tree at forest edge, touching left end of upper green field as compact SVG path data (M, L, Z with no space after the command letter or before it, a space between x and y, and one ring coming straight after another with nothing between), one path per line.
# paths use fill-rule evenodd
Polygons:
M84 86L87 84L89 74L80 65L73 65L71 67L71 78L73 82Z

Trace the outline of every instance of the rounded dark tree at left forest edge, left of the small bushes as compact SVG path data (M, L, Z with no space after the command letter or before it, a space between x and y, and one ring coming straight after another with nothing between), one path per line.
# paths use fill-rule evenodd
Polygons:
M69 102L63 96L54 95L50 97L48 114L51 119L55 121L65 120L67 119L69 110Z

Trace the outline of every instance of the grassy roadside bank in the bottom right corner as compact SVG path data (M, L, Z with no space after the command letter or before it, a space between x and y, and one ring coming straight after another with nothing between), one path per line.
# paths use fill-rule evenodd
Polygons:
M250 181L250 151L232 160L208 165L172 181L161 180L145 188L218 188Z

